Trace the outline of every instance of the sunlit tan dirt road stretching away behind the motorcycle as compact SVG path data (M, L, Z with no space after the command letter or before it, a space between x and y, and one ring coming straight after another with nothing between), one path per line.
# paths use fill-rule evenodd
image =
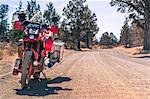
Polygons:
M21 89L19 76L1 76L0 99L150 99L148 56L73 52L44 72L52 80L31 80L29 89Z

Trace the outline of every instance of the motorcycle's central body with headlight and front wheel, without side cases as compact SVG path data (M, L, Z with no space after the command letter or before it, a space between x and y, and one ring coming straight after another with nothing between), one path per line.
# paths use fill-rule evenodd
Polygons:
M43 57L41 57L41 45L38 40L40 31L40 24L38 23L24 23L26 30L23 38L23 59L20 64L21 69L21 85L25 87L31 78L31 75L35 79L40 77L40 73L43 70Z

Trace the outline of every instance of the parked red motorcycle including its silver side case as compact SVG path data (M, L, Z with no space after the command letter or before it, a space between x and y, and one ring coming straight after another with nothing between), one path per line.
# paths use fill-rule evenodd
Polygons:
M17 75L18 72L21 73L22 87L26 87L29 84L32 75L34 79L39 79L40 74L43 73L44 66L50 62L60 62L64 45L59 40L47 39L40 41L38 39L42 30L40 24L25 21L24 25L26 29L24 30L22 47L20 47L22 52L18 51L20 58L16 60L13 71L14 75ZM53 47L53 50L49 50L51 47Z

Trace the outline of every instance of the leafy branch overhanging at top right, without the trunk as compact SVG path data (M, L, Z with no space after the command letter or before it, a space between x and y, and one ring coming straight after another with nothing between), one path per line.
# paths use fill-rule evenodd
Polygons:
M146 5L148 2L148 0L111 0L110 5L118 6L118 12L128 12L128 18L131 19L131 21L136 21L136 23L144 28L139 22L139 19L144 18L145 9L147 9Z

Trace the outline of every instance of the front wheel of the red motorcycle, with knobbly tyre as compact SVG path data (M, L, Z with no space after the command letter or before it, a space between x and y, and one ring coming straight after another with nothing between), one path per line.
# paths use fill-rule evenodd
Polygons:
M24 53L24 59L22 64L22 75L21 75L21 86L22 88L26 87L29 83L29 79L31 76L31 59L32 59L32 51L26 50ZM29 71L28 71L29 68Z

